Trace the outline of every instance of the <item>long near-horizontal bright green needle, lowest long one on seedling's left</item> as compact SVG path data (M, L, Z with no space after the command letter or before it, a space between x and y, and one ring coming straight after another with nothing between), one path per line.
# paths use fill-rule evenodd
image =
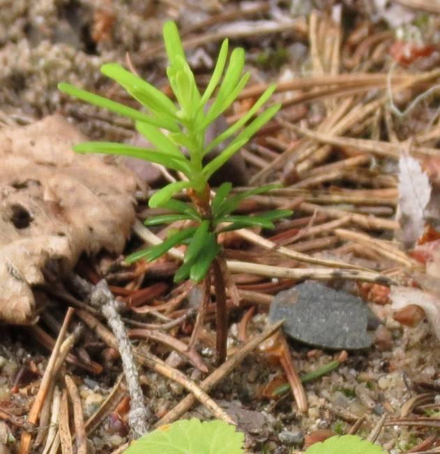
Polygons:
M133 158L162 164L183 173L190 173L190 163L185 158L177 159L172 154L158 152L155 149L135 147L116 142L82 142L73 147L78 153L105 153L119 156L132 156ZM182 155L183 156L183 155Z

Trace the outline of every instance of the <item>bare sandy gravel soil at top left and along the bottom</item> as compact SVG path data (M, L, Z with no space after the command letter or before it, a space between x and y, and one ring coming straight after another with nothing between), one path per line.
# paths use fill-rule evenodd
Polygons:
M100 76L101 64L123 61L126 52L130 55L148 52L149 46L160 38L165 17L180 17L189 25L216 8L215 1L206 2L205 10L197 10L192 17L169 3L172 2L1 0L0 110L17 122L59 111L73 117L91 137L118 140L130 136L126 124L109 124L109 117L103 112L61 96L56 84L66 81L106 93L114 87ZM163 73L160 64L155 68L144 64L138 69L141 75L160 84L158 73ZM116 95L122 96L119 92ZM377 309L386 312L384 307ZM265 318L264 314L255 316L249 332L261 330ZM367 415L367 423L360 432L366 435L384 411L391 416L399 415L402 404L416 393L412 379L436 379L440 352L427 323L409 330L389 314L384 319L370 351L350 353L339 369L305 385L310 404L305 415L298 413L290 394L279 400L262 397L268 382L280 374L280 368L271 366L265 353L252 354L227 376L212 396L230 411L248 411L243 413L243 420L248 424L249 452L281 454L301 450L304 438L314 431L347 432L353 423L352 416ZM236 326L232 325L232 346L236 342L234 332ZM29 342L25 330L1 328L1 333L0 407L18 418L29 411L38 374L47 365L47 352ZM311 355L310 348L296 344L291 344L291 351L301 374L319 369L337 357L337 353L326 351ZM36 370L20 382L20 389L13 394L11 388L17 372L23 366L29 369L30 361ZM68 367L78 376L84 414L88 417L109 393L119 365L116 363L113 371L98 379ZM190 368L185 373L192 379L199 378ZM149 371L142 372L141 381L156 416L174 407L185 395L181 386ZM263 418L256 418L252 411ZM210 418L202 407L196 407L190 415ZM8 425L12 434L19 437L20 427ZM390 453L397 454L425 437L424 431L420 431L419 437L415 430L388 427L382 430L379 442ZM109 420L91 437L96 453L112 452L126 440L126 427L115 427Z

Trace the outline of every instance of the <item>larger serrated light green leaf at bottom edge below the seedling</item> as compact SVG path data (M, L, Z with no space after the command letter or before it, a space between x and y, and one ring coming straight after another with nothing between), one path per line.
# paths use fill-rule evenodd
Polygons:
M243 454L244 434L220 420L181 420L135 441L124 454Z

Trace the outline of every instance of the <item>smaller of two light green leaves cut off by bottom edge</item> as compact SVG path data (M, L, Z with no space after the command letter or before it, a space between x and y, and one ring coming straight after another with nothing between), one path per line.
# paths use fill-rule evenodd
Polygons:
M305 454L386 454L386 451L357 435L342 435L315 443Z

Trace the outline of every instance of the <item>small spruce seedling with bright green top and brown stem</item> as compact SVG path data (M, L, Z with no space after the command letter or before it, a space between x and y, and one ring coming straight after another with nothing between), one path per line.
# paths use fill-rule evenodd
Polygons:
M211 197L208 180L278 112L280 104L271 105L259 112L275 89L275 85L268 87L243 117L206 143L208 127L232 105L250 78L250 73L243 74L245 52L241 47L234 49L227 64L228 41L223 41L211 80L201 93L185 59L174 22L165 24L163 37L169 59L167 76L177 102L116 63L103 65L102 73L118 82L139 101L142 110L135 110L66 83L60 83L59 89L82 101L134 120L137 131L153 145L151 148L142 148L114 142L84 142L75 146L76 152L134 156L162 164L184 175L185 181L167 184L149 200L150 207L166 208L172 214L151 217L145 221L145 225L188 220L191 221L190 226L174 233L162 244L131 254L126 261L134 262L141 258L153 261L166 254L170 248L186 244L183 265L176 272L174 280L179 282L190 278L196 282L204 281L205 299L210 297L209 270L212 270L217 305L217 363L222 363L226 356L227 340L227 268L218 244L218 233L252 226L273 228L274 220L289 216L291 211L275 210L258 216L234 214L244 198L270 191L275 186L261 186L232 195L232 184L224 183L215 196ZM227 140L229 142L224 145L222 152L204 165L204 156L221 147ZM190 198L188 203L172 198L183 189L186 189ZM202 323L203 312L199 312L196 327Z

